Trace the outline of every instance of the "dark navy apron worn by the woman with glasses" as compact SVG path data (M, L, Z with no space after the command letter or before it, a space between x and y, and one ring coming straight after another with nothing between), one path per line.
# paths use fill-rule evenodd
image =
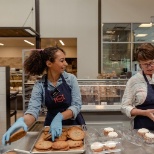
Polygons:
M154 85L149 84L147 77L143 72L143 77L147 82L147 97L143 104L136 106L137 109L154 109ZM136 116L134 119L134 129L147 128L154 130L154 122L146 116Z

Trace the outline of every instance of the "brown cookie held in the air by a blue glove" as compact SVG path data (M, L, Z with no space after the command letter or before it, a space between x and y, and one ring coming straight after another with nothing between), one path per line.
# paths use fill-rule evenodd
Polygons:
M24 137L26 134L27 132L25 132L23 129L19 129L17 132L10 136L10 139L7 143L15 142Z

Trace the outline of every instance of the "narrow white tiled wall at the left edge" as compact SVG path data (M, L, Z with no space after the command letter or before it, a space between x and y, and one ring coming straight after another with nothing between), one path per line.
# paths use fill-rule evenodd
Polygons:
M6 68L0 67L0 143L6 132Z

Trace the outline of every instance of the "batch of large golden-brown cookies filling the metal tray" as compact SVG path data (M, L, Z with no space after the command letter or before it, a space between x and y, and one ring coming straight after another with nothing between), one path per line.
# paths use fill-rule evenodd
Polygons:
M49 127L45 127L40 134L33 152L51 152L67 150L83 150L85 132L79 126L69 126L62 128L62 134L52 141Z

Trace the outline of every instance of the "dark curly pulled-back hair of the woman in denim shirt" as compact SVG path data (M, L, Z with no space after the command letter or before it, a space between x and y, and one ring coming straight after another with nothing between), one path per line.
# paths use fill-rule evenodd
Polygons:
M54 62L56 52L60 50L65 54L65 51L60 47L48 47L44 50L32 50L30 56L24 61L25 73L29 75L41 75L47 70L46 61Z

